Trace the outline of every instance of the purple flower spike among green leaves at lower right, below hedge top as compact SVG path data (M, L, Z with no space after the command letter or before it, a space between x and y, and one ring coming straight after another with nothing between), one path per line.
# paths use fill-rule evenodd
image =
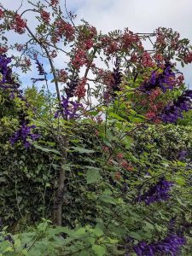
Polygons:
M168 182L164 177L161 177L160 181L149 188L137 201L145 201L147 205L154 201L166 201L170 197L169 192L172 185L172 182Z

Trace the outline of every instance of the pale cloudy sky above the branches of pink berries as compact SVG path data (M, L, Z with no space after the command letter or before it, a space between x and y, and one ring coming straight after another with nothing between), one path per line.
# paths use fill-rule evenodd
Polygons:
M20 0L0 0L0 3L9 9L20 6ZM60 3L64 7L64 0ZM27 1L23 0L22 9L26 7ZM189 38L192 44L192 0L67 0L67 9L102 32L125 27L133 32L153 32L165 26L172 27L182 38ZM192 65L182 71L186 84L192 86Z

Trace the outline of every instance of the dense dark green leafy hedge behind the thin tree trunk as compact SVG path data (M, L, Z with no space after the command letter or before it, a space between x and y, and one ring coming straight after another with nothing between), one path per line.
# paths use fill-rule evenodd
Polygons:
M16 224L23 224L25 221L34 223L43 216L51 218L56 170L59 167L55 154L33 147L26 151L20 143L12 148L9 137L15 131L16 120L3 118L0 124L0 217L3 223L16 229ZM53 141L46 129L42 131L44 135L42 134L41 141L43 138L44 141ZM80 134L81 137L86 138L84 148L90 148L94 140L91 134L88 136L89 132L90 128L87 127ZM100 144L102 143L98 139L94 147L98 149ZM162 159L164 162L171 160L174 164L182 150L188 152L186 160L190 161L191 144L191 126L148 125L135 131L132 135L131 148L127 149L127 160L131 161L139 172L128 173L127 178L137 179L138 173L146 174L151 165L160 164ZM63 224L73 226L77 221L81 224L94 223L98 209L96 210L96 198L92 192L99 191L104 183L96 186L87 184L84 180L84 166L90 166L94 161L99 163L102 155L102 150L100 151L97 150L91 159L89 154L69 154ZM76 181L73 180L72 170L73 175L77 177ZM102 177L108 181L109 176L113 176L113 172L116 171L110 167L110 172L104 171Z

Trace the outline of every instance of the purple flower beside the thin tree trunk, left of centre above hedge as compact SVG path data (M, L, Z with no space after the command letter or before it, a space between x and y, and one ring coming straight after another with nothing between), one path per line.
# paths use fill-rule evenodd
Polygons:
M59 116L60 113L62 113L67 119L73 119L77 117L77 111L79 108L82 108L83 105L79 102L73 102L69 101L69 97L65 98L64 96L61 96L61 109L58 109L55 113L55 118Z

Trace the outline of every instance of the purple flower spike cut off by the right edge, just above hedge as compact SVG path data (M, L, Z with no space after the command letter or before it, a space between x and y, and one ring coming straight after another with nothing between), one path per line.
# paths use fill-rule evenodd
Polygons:
M160 119L165 123L175 123L177 119L183 118L183 111L187 112L192 109L191 104L192 90L185 90L177 100L168 104L162 111Z

